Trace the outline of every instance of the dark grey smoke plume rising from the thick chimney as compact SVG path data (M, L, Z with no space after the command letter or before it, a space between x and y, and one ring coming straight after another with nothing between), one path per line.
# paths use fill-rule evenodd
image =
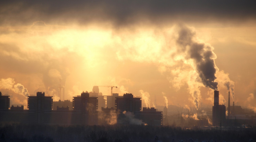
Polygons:
M177 43L181 46L182 51L187 52L187 58L193 59L202 83L206 87L217 90L218 83L214 81L216 79L216 65L214 62L216 55L212 51L212 47L195 42L193 38L194 33L188 27L182 26Z

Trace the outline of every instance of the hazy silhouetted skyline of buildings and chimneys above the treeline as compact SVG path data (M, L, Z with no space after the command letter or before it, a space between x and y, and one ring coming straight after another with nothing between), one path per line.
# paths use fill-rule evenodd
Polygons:
M37 92L28 96L28 109L24 106L11 106L10 96L0 92L0 122L59 124L59 125L114 125L136 124L153 126L191 127L249 127L256 124L253 111L241 106L228 107L219 104L219 91L214 91L212 108L203 107L195 110L166 106L162 110L143 107L141 97L126 93L104 96L99 93L98 86L92 92L82 92L73 96L73 100L53 102L53 97Z

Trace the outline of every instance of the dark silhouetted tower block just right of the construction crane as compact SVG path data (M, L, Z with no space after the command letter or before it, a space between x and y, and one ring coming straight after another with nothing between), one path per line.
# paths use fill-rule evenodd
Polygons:
M115 108L118 111L130 111L138 113L141 110L141 97L134 97L132 94L124 94L124 96L118 96L115 100Z

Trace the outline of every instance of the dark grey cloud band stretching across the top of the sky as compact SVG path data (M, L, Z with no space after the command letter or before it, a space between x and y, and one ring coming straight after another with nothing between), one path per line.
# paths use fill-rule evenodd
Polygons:
M28 24L44 21L51 24L77 22L111 22L126 25L148 20L163 21L207 21L255 19L256 1L215 0L100 0L100 1L2 1L0 24ZM199 21L198 21L199 20Z

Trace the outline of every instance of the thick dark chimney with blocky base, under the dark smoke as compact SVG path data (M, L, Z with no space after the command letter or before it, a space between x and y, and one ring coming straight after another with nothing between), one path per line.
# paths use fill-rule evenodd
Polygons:
M219 105L219 91L214 91L214 106L212 107L212 125L223 126L226 120L226 106Z

